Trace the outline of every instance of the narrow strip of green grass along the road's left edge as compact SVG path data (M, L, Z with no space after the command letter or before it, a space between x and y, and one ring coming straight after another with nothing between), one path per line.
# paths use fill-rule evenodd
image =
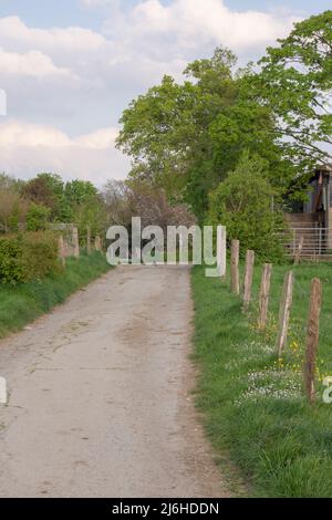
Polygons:
M68 259L63 272L18 285L0 284L0 337L62 303L70 294L110 269L100 252Z

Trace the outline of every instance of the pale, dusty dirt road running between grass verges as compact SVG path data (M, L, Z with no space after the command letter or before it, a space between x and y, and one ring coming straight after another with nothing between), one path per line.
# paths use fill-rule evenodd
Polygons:
M190 396L191 315L187 268L121 267L0 342L0 496L226 496Z

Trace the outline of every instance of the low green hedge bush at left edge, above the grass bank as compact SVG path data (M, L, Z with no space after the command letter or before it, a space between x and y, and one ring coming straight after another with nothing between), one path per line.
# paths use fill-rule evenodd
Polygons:
M38 280L60 269L52 232L27 232L0 239L0 283Z

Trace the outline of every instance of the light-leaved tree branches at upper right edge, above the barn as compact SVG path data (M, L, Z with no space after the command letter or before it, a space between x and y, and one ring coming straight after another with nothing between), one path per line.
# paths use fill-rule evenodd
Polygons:
M331 163L332 11L297 23L260 65L255 96L273 112L276 136L298 171Z

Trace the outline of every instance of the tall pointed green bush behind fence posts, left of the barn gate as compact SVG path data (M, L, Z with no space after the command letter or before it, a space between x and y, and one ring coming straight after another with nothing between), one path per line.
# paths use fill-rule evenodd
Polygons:
M228 238L240 240L242 253L253 249L261 260L281 260L279 233L286 223L283 214L271 209L274 196L264 162L245 153L235 171L210 195L208 223L226 226Z

